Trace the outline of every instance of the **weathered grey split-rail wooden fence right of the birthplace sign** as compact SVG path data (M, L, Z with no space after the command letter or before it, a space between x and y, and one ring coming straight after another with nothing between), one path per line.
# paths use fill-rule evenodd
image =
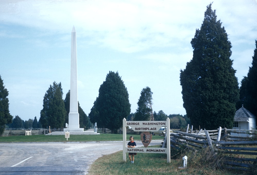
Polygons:
M188 127L189 128L189 127ZM257 141L251 130L238 131L233 129L191 130L170 133L170 146L176 150L197 150L210 147L215 153L224 153L223 167L228 169L253 171L257 168ZM191 127L193 128L193 127ZM249 134L250 137L231 137L231 133ZM167 137L164 138L166 143ZM164 147L165 144L162 145ZM254 158L246 158L247 155Z

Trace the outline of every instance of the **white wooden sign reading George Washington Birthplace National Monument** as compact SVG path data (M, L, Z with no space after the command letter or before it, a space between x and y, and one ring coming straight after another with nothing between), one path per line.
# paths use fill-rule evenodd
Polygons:
M126 127L130 126L134 131L143 132L141 141L144 145L142 148L127 148L126 146ZM162 126L167 127L167 148L147 148L152 137L149 132L158 131ZM146 133L148 132L148 133ZM123 161L126 162L126 153L164 153L167 154L167 162L170 163L170 119L166 121L126 121L123 119ZM163 143L165 145L165 143Z

